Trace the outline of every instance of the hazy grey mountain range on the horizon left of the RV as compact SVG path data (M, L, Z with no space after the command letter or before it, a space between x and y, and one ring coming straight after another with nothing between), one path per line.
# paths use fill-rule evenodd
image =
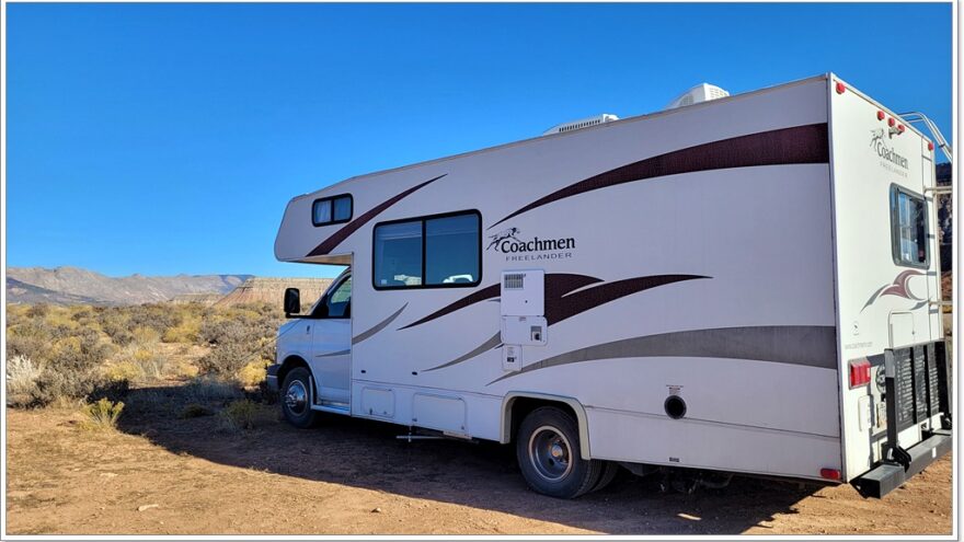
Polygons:
M140 304L185 293L225 295L252 275L107 277L79 267L8 267L7 301L56 304Z

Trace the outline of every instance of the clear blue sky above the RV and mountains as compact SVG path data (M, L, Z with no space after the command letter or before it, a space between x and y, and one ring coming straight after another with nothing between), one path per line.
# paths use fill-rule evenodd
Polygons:
M951 4L7 4L7 257L282 264L292 196L835 71L951 136Z

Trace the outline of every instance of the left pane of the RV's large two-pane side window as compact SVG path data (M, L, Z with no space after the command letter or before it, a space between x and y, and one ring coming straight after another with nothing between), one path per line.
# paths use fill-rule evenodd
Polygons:
M422 285L422 221L375 228L375 286Z

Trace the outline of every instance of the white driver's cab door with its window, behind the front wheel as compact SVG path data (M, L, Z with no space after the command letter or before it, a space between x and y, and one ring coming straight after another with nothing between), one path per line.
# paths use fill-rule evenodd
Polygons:
M345 274L335 281L312 318L311 366L318 402L347 411L352 373L352 275Z

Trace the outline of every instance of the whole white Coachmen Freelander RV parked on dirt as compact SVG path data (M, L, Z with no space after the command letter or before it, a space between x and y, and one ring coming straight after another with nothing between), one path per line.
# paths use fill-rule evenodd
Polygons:
M286 292L269 382L300 427L514 445L556 497L617 465L882 496L952 441L933 161L826 74L352 177L285 210L278 260L346 269Z

